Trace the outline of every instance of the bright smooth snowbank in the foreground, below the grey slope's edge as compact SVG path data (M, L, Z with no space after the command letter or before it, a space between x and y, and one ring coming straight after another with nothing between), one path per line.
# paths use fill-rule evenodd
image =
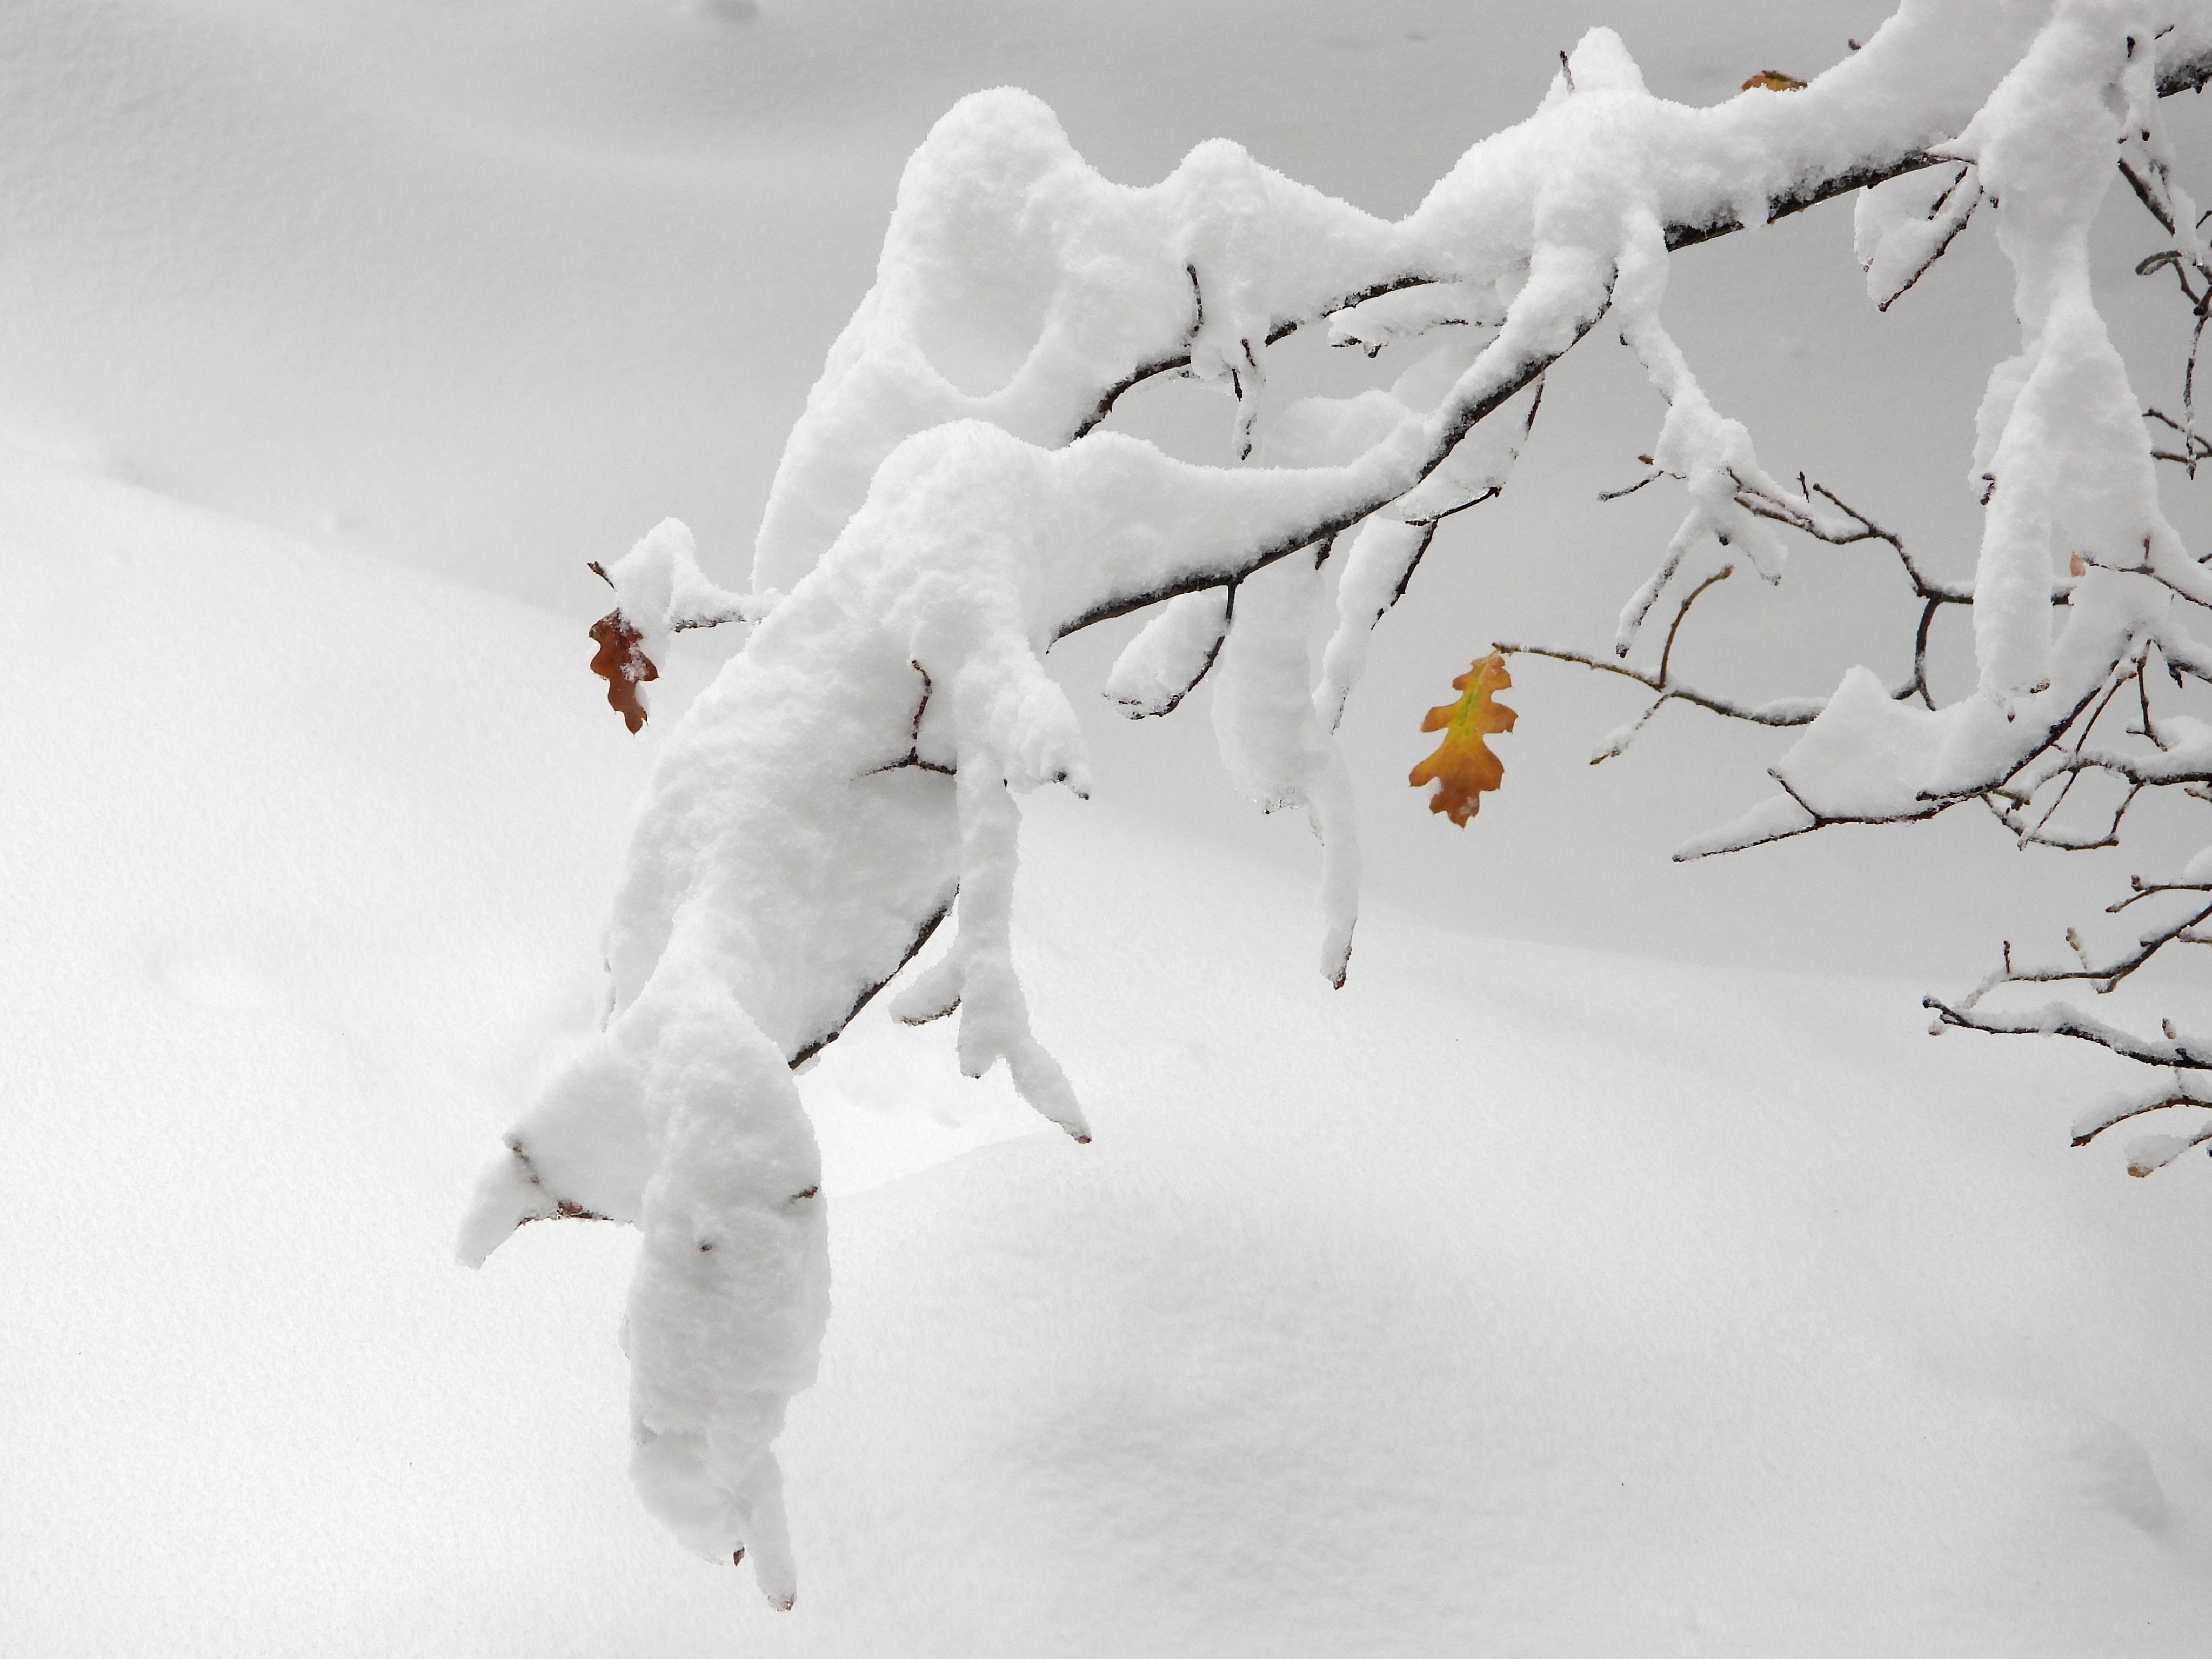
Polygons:
M449 1261L644 750L580 622L0 456L0 1628L64 1655L2188 1655L2201 1161L1891 982L1480 940L1026 803L1097 1141L872 1009L770 1613L628 1493L633 1239Z

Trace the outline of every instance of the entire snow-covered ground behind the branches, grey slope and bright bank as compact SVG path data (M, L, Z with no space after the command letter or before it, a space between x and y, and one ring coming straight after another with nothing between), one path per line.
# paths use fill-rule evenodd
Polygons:
M1343 993L1303 830L1234 816L1203 712L1104 717L1018 911L1097 1141L880 1011L803 1077L836 1312L794 1613L630 1495L630 1237L451 1263L591 1029L668 732L582 672L582 560L681 513L741 575L945 104L1013 80L1115 177L1230 133L1402 212L1588 22L1708 102L1880 13L7 7L0 1650L2197 1652L2212 1170L2068 1150L2093 1055L1927 1040L1927 971L2008 925L1986 825L1670 869L1759 754L1590 774L1619 706L1564 670L1471 832L1400 783L1471 648L1601 637L1663 540L1559 507L1648 442L1619 358L1559 372L1360 692ZM1955 538L2011 319L1931 281L1876 325L1840 212L1736 241L1681 261L1701 369L1776 467ZM1807 666L1747 637L1717 661ZM2046 931L2112 883L2057 865Z

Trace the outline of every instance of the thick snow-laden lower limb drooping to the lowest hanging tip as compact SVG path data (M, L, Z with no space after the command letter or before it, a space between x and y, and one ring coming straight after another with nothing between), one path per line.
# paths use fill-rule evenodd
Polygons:
M728 1270L750 1274L745 1327L759 1340L728 1354L719 1327L661 1318L688 1303L639 1279L635 1394L681 1409L639 1405L657 1438L637 1480L695 1546L726 1555L750 1537L772 1601L785 1604L792 1582L776 1553L770 1444L779 1400L812 1374L821 1274L770 1248L781 1234L759 1225L761 1192L677 1172L695 1139L686 1110L703 1110L686 1091L706 1079L728 1119L717 1133L812 1159L787 1086L728 1079L750 1077L759 1053L796 1064L832 1042L958 891L958 967L936 975L927 1000L938 1006L909 1013L958 1000L962 1066L1004 1060L1022 1095L1084 1139L1066 1077L1029 1031L1009 949L1009 792L1082 790L1086 774L1044 648L1155 597L1239 584L1312 544L1312 526L1327 540L1396 500L1588 330L1606 274L1575 252L1540 263L1520 321L1440 407L1398 420L1345 467L1217 471L1117 434L1053 451L975 420L916 434L670 734L606 931L606 1026L515 1126L462 1254L482 1261L515 1225L562 1214L639 1221L650 1234L659 1192L681 1194L684 1225L717 1217L732 1239ZM1318 728L1303 681L1296 692L1301 730ZM1332 845L1325 969L1340 973L1356 885L1349 792L1327 757L1307 761L1301 787ZM699 1006L728 1018L692 1018ZM814 1186L794 1159L770 1181L787 1188L779 1203ZM648 1256L641 1272L668 1261ZM728 1371L726 1396L681 1380L706 1369ZM697 1427L708 1418L712 1433Z

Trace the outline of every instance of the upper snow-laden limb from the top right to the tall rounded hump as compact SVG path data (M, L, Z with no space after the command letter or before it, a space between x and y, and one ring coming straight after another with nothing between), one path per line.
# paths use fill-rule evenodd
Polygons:
M883 458L927 427L978 418L1062 445L1139 380L1192 372L1239 398L1250 436L1265 345L1321 316L1358 305L1340 338L1376 347L1495 316L1540 248L1610 257L1630 206L1683 248L1924 168L2037 22L2033 7L1907 0L1805 91L1714 108L1652 97L1619 38L1593 29L1535 115L1475 144L1396 223L1221 142L1157 186L1117 186L1035 97L975 93L907 168L876 285L785 447L754 582L792 586ZM2159 42L2166 77L2194 62L2192 42L2205 46ZM1451 296L1376 305L1420 285Z

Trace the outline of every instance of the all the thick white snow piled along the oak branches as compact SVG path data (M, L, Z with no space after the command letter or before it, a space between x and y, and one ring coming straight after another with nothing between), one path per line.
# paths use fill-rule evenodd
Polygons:
M686 626L757 626L657 765L608 920L604 1029L511 1133L462 1237L465 1259L482 1261L542 1217L644 1230L626 1340L633 1467L655 1515L708 1559L750 1553L761 1588L790 1606L772 1442L827 1314L818 1159L790 1066L947 914L953 951L896 1011L958 1011L962 1068L1006 1062L1040 1113L1088 1137L1031 1031L1009 942L1015 796L1086 787L1075 714L1042 664L1055 639L1157 608L1106 686L1133 717L1166 714L1217 677L1230 774L1261 805L1305 807L1323 838L1321 964L1340 982L1358 856L1334 730L1367 637L1436 524L1504 487L1544 369L1601 316L1668 396L1652 456L1692 498L1624 613L1624 653L1668 593L1694 595L1728 560L1778 575L1774 518L1849 531L1809 498L1781 507L1750 436L1705 400L1661 323L1670 250L1938 161L1938 217L1964 201L1958 168L1978 168L2017 243L2033 341L1984 411L1989 467L2008 480L2008 529L1978 588L1997 595L1986 712L1920 710L1936 726L1911 726L1885 772L1854 759L1851 734L1887 732L1900 703L1847 681L1792 750L1814 761L1792 759L1785 787L1878 812L1918 807L1929 785L1966 787L2013 741L1991 721L2048 726L2048 708L2101 684L2095 659L2163 615L2152 591L2197 597L2212 582L2128 471L2150 465L2124 453L2132 400L2068 263L2121 111L2154 133L2154 93L2212 73L2203 18L2159 35L2132 18L1907 0L1807 88L1714 108L1650 95L1621 40L1593 29L1540 108L1475 144L1400 221L1228 142L1201 144L1157 186L1110 184L1011 88L938 122L907 166L876 285L787 440L754 595L708 584L675 524L606 573L648 659ZM2128 29L2139 40L2124 46ZM2088 168L2093 137L2104 148ZM2194 223L2161 144L2137 144L2139 177ZM1907 232L1885 281L1933 257L1927 230ZM2192 232L2185 243L2201 265ZM1267 347L1323 321L1338 345L1413 361L1387 389L1294 403L1261 429ZM1188 465L1102 427L1159 374L1232 400L1243 465ZM2059 422L2059 409L2090 414ZM2075 504L2033 482L2055 458L2068 480L2115 482ZM2084 582L2095 626L2077 619L2051 646L2037 635L2048 604L2024 595L2039 595L2035 549L2059 522L2115 568ZM1338 551L1316 677L1305 639ZM2148 586L2119 573L2143 560ZM1655 690L1688 695L1668 688L1661 666ZM1867 695L1880 708L1851 726ZM1971 752L1922 730L1964 732ZM1818 759L1829 752L1843 759Z

